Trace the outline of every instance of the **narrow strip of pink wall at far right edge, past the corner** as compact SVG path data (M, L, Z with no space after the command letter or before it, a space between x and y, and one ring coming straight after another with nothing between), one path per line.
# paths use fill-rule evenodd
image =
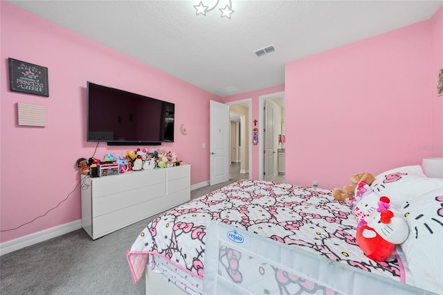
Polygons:
M435 73L443 69L443 6L440 7L431 19L432 46L431 46L431 89L435 93ZM432 155L443 157L443 96L429 98L432 101Z

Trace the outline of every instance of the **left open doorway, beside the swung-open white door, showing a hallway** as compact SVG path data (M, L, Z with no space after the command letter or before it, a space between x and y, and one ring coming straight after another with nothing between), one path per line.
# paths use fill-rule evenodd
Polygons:
M230 181L248 179L251 172L252 147L251 98L227 102L230 113Z

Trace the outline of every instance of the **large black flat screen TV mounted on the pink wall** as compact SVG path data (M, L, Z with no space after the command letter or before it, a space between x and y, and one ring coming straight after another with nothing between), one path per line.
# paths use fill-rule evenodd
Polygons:
M172 102L87 82L87 141L108 145L174 142Z

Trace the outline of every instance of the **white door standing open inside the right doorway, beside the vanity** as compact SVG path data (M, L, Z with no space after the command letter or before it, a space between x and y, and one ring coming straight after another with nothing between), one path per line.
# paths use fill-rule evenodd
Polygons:
M274 177L274 108L272 103L264 100L264 180L272 181Z

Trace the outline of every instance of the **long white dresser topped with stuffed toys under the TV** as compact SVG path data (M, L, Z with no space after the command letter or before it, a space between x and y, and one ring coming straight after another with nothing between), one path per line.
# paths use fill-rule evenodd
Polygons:
M93 240L190 200L190 165L82 176L82 228Z

